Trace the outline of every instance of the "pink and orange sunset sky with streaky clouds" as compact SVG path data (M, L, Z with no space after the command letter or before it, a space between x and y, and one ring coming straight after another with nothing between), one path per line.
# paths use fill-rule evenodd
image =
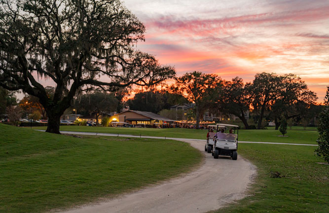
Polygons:
M251 82L293 73L323 102L329 86L329 0L124 0L146 26L137 48L177 74Z

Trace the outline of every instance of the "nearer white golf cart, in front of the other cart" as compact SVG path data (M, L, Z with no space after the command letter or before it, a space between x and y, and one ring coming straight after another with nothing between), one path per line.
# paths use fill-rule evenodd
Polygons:
M232 157L232 160L238 158L238 134L239 129L237 125L217 123L218 126L223 126L222 131L217 131L216 140L213 149L214 158L219 155Z

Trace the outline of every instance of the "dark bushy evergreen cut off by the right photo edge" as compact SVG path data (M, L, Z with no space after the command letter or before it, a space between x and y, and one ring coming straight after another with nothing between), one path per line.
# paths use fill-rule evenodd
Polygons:
M325 107L320 113L318 124L319 137L317 143L319 147L315 152L329 163L329 87L327 87L324 104Z

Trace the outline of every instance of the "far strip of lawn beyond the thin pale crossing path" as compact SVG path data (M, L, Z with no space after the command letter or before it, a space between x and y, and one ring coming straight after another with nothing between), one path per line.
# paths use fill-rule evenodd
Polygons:
M34 127L35 129L46 129L46 127ZM80 131L80 132L99 132L113 134L131 134L158 137L173 138L191 138L206 139L207 131L205 129L186 129L186 128L120 128L120 127L100 127L100 126L61 126L63 131ZM299 128L287 130L288 137L278 137L281 135L279 130L270 129L248 129L239 130L239 141L255 142L277 142L277 143L299 143L299 144L316 144L318 132L313 130L301 130Z

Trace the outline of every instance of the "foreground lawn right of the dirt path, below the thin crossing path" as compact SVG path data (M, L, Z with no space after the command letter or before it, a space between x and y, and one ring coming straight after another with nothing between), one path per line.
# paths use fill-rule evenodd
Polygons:
M329 212L329 165L317 164L314 147L240 144L239 153L257 166L251 196L216 213Z

